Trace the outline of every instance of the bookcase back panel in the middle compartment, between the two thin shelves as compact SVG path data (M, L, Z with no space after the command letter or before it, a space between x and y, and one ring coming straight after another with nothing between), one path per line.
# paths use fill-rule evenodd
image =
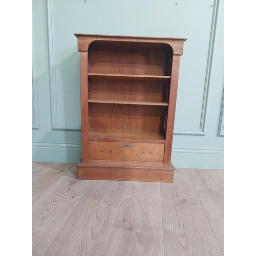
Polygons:
M166 81L89 79L89 99L167 102L168 87Z

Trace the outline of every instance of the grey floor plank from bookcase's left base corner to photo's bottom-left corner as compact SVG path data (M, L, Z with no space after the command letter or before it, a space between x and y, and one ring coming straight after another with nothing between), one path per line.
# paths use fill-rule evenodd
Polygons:
M72 173L61 176L32 204L32 255L47 255L44 251L48 244L57 236L90 184L91 181L77 180Z

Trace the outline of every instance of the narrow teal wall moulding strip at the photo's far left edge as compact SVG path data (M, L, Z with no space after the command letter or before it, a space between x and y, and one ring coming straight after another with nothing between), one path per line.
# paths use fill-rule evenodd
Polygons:
M39 109L38 109L38 94L37 94L37 76L35 66L35 48L34 48L34 32L32 19L32 129L39 130Z

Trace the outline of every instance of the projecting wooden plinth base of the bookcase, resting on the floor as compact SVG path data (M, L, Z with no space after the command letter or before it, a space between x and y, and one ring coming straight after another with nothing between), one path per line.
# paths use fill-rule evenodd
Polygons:
M137 164L77 164L77 179L173 182L174 166L150 166Z

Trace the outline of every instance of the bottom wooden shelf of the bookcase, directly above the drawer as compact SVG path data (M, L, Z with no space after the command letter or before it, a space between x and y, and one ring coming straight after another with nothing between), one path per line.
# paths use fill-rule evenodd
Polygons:
M164 144L163 134L158 133L121 133L89 132L89 141L144 142Z

